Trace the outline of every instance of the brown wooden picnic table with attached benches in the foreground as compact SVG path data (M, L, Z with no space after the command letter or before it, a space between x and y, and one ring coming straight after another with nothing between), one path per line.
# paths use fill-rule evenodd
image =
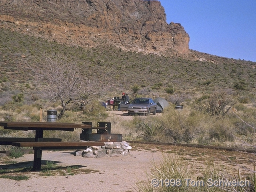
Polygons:
M34 138L0 138L0 144L12 144L18 147L33 147L34 171L41 170L42 150L48 149L83 149L87 146L104 146L104 142L62 142L57 138L43 138L44 130L74 131L74 129L90 129L91 125L56 122L0 122L4 129L35 130ZM2 143L1 143L2 142Z

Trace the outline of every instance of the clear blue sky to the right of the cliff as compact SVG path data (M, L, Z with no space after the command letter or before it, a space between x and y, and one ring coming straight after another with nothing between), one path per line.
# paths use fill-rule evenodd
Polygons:
M159 0L192 50L256 62L256 0Z

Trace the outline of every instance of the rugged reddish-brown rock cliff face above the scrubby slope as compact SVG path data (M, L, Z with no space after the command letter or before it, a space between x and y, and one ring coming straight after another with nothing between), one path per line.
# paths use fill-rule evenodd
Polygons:
M156 0L0 0L0 28L72 46L188 54L189 36Z

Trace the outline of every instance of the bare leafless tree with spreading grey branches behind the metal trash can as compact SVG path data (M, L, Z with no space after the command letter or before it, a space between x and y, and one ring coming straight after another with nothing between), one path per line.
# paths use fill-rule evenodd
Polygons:
M44 56L45 62L31 66L30 75L50 100L61 101L62 110L58 119L62 118L68 104L88 102L95 96L106 93L109 82L88 78L81 74L81 67L76 62L68 62L60 55ZM102 78L103 79L103 78Z

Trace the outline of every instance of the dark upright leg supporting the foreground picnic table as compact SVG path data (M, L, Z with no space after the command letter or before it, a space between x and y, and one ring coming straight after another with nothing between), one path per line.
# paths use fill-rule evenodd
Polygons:
M42 141L43 132L44 130L42 129L36 130L35 141ZM34 171L41 170L41 163L42 163L42 150L40 147L35 147L34 148L34 164L33 164Z

